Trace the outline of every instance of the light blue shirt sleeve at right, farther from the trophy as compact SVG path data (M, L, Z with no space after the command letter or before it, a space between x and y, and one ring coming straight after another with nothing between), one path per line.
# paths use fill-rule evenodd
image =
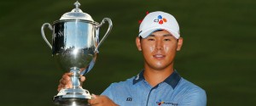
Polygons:
M207 106L207 93L203 89L187 92L179 106Z

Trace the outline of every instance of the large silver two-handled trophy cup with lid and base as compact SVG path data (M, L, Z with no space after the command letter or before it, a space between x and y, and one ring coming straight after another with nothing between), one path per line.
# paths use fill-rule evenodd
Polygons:
M90 92L83 89L79 83L79 76L88 73L96 62L98 48L112 29L112 21L104 18L101 24L92 20L90 14L83 13L79 8L80 3L74 3L71 12L63 14L61 20L56 20L53 25L45 23L41 28L44 41L52 49L55 63L61 70L72 72L73 88L62 89L53 102L63 106L86 106L90 99ZM108 31L99 40L100 27L108 21ZM52 31L52 46L44 35L44 27Z

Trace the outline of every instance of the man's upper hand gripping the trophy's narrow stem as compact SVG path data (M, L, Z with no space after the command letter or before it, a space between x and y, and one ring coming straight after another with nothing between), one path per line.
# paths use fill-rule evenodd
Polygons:
M58 91L60 92L63 88L72 88L72 81L71 76L73 75L72 72L65 73L62 75L62 78L60 80L60 84L58 86ZM80 86L82 86L83 82L85 81L85 77L83 75L80 75Z

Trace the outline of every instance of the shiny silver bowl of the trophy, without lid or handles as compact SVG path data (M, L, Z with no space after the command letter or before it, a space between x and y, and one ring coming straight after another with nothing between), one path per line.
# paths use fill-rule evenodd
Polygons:
M52 54L61 70L70 68L86 74L96 61L99 24L84 20L58 20L53 24Z

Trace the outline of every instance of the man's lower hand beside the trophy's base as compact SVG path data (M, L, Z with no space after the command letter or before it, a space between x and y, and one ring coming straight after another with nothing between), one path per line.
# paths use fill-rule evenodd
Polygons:
M113 101L108 98L107 96L99 96L91 94L92 99L88 100L88 103L91 106L118 106L116 103L113 103Z

